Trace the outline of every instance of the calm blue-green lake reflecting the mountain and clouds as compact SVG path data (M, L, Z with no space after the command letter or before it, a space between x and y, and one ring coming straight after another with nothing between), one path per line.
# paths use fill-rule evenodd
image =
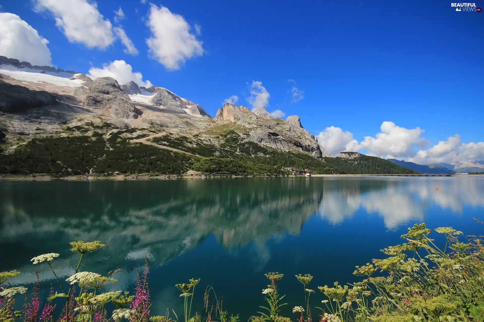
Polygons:
M484 178L1 182L0 271L19 269L12 284L31 287L37 270L45 295L52 272L30 259L60 253L52 266L65 280L78 261L68 243L100 240L107 246L84 256L81 271L121 268L108 291L132 291L147 257L151 315L170 308L182 318L174 285L199 278L195 310L210 285L229 314L245 322L265 305L264 273L285 274L280 293L291 316L304 303L295 274L315 276L307 287L317 291L312 306L319 306L318 286L360 280L354 266L384 258L379 250L402 243L408 226L425 222L484 235L472 217L484 221Z

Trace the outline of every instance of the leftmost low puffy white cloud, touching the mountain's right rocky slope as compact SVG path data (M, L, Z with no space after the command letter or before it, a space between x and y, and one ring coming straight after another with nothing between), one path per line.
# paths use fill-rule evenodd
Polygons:
M353 139L353 134L343 131L339 127L329 126L318 134L318 142L326 151L336 155L342 151L358 151L360 146L358 141Z

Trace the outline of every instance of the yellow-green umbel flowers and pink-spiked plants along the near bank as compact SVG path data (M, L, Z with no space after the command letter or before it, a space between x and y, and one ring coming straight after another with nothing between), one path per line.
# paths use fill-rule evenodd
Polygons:
M252 316L250 322L483 322L484 246L480 238L484 236L463 236L462 232L452 227L439 227L435 232L442 240L441 247L434 243L432 230L425 224L408 228L408 232L401 236L404 243L381 250L386 257L356 266L353 274L359 280L353 283L342 285L334 282L333 286L315 288L310 286L313 276L296 275L296 280L302 284L304 297L301 294L301 302L297 303L301 305L292 309L285 308L285 295L280 294L279 283L284 274L267 273L265 276L270 283L262 289L266 305L260 307L261 311ZM170 311L166 310L163 316L152 316L148 260L143 272L137 275L132 295L121 291L103 292L107 285L117 282L113 276L119 270L103 276L79 271L79 268L85 254L106 245L100 241L76 241L70 244L71 251L79 254L79 263L75 273L66 280L60 280L51 266L59 254L42 254L31 260L32 264L49 266L59 285L58 291L52 286L49 297L42 301L45 302L43 308L37 296L38 282L30 291L23 286L11 287L9 280L20 272L0 272L0 322L240 320L239 315L229 315L223 309L219 296L210 301L210 294L215 294L211 287L205 290L203 308L193 308L199 279L175 285L183 301L183 315L171 311L172 319L169 317ZM315 296L319 307L312 305ZM21 311L14 310L17 297L26 301ZM56 310L60 304L62 309ZM162 308L156 310L162 311ZM54 312L60 312L60 316L53 317ZM287 317L291 313L292 318Z

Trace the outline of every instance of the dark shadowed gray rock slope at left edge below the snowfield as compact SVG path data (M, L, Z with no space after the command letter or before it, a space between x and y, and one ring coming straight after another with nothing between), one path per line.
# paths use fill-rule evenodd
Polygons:
M31 108L55 103L55 94L45 91L32 91L27 87L0 80L0 111L2 112L23 112Z

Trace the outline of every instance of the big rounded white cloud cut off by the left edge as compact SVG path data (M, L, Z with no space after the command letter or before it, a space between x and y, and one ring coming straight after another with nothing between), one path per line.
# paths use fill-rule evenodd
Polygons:
M0 13L0 55L28 61L32 65L52 65L49 43L37 30L16 14Z

